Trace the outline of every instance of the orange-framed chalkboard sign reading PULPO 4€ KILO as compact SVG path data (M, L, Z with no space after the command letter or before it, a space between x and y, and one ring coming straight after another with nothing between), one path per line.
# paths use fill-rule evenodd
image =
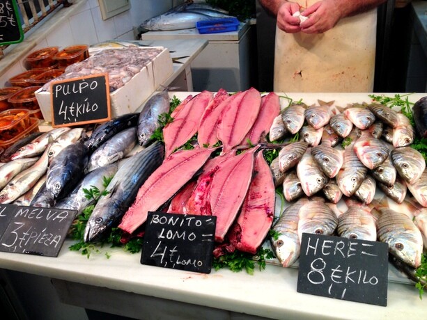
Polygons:
M111 119L107 73L52 81L51 93L52 127Z

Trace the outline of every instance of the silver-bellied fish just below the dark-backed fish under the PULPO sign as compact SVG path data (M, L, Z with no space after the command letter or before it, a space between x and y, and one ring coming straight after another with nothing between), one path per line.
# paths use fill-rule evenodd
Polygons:
M102 166L114 163L133 149L137 144L137 127L131 127L120 131L109 138L91 154L88 160L87 172L91 172Z

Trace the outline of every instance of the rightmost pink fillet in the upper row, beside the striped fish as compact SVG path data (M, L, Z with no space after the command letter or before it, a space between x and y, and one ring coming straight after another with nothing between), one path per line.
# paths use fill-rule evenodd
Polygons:
M274 118L280 113L279 96L275 93L269 93L261 98L261 107L258 117L254 125L251 127L247 135L243 138L240 145L247 145L248 141L251 145L256 145L261 141L273 124Z

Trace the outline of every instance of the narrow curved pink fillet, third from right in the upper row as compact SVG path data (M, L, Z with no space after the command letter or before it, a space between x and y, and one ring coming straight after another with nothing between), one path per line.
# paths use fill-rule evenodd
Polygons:
M217 127L222 111L234 99L235 95L229 96L226 90L219 89L215 97L210 101L203 113L197 130L197 141L203 147L212 147L218 142Z

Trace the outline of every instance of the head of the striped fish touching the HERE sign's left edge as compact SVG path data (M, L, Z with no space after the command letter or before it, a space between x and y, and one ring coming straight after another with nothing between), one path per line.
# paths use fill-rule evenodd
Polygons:
M300 257L300 239L295 232L283 232L276 238L271 238L274 254L282 266L291 266Z

